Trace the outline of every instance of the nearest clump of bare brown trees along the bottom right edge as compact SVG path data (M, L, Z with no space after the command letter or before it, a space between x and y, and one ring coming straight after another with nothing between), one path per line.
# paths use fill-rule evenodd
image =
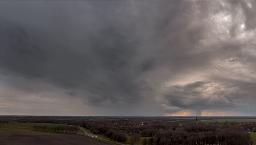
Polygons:
M131 144L137 143L131 137ZM141 141L142 145L252 145L250 136L240 127L216 130L197 129L160 130L155 136Z

